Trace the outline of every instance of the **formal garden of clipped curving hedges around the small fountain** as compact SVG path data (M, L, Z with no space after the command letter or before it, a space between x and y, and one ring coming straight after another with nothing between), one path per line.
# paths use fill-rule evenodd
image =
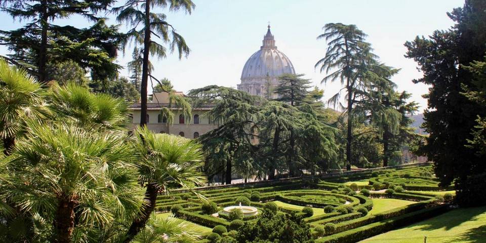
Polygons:
M369 184L352 183L363 179L368 179ZM188 192L160 195L156 210L172 212L177 218L214 228L213 233L200 242L215 242L214 232L234 234L231 230L245 221L257 220L264 207L275 207L268 202L278 201L278 213L300 215L310 224L315 242L356 242L446 212L453 195L432 192L450 189L452 187L439 187L430 166L412 167L326 180L300 179L274 186L200 190L198 193L205 198L204 202ZM374 210L375 198L414 203L382 212ZM222 208L239 202L257 208L259 214L245 217L238 213L221 213Z

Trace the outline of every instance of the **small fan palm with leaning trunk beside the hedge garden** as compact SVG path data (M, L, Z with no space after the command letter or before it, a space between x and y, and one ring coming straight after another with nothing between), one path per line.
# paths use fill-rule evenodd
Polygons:
M130 226L124 242L130 242L145 227L156 204L158 192L174 188L202 186L206 178L199 170L204 166L201 146L180 136L154 134L146 127L135 131L135 146L142 155L138 165L140 184L146 188L146 205Z

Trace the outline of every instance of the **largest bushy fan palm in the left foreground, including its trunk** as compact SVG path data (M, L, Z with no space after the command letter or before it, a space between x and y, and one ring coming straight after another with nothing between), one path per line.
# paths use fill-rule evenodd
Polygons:
M53 222L50 241L71 242L136 215L143 204L134 165L140 156L126 135L59 122L28 125L9 157L10 200Z

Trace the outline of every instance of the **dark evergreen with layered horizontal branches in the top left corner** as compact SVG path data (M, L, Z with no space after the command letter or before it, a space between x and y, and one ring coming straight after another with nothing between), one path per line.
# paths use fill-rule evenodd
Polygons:
M31 20L31 22L28 22L24 27L17 30L0 32L3 43L8 45L9 49L14 52L9 60L21 65L28 64L26 67L34 69L31 70L31 73L35 73L38 76L39 82L48 82L49 74L47 73L47 66L50 59L49 52L53 49L50 41L52 38L62 40L62 36L68 36L62 40L62 44L58 43L58 45L71 45L71 48L73 48L72 45L76 46L76 44L73 43L73 38L69 38L69 36L71 34L77 35L80 31L72 26L57 26L53 22L76 14L82 15L92 21L99 21L101 19L96 17L95 14L98 11L105 10L113 2L113 0L1 1L2 11L7 12L14 18ZM92 31L92 33L96 32ZM100 37L99 39L105 38ZM89 40L85 38L84 41L96 42L96 39ZM84 43L83 48L86 49L86 46L86 43ZM92 51L96 50L92 49Z

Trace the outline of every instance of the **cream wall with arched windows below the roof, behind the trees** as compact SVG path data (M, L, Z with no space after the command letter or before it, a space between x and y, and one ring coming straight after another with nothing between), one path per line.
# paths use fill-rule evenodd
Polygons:
M140 124L140 110L132 110L133 112L133 128ZM179 124L179 115L181 112L176 111L174 112L174 121L171 126L167 124L158 123L157 122L157 115L160 114L158 110L148 110L147 113L149 115L147 128L153 131L154 133L160 133L163 131L164 133L168 134L175 134L179 135L180 132L184 133L185 138L194 138L194 132L198 132L199 136L203 135L215 128L217 128L214 124L209 124L209 120L207 117L203 117L205 110L193 110L192 116L195 114L199 115L199 124L194 124L194 119L191 120L191 124L187 124L187 119L185 119L185 124Z

